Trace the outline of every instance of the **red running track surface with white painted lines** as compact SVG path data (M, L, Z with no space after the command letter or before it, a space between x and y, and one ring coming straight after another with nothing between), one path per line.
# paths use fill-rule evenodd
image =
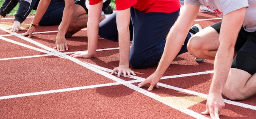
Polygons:
M29 24L33 15L23 24ZM199 13L195 24L203 28L220 21L215 14ZM12 22L6 17L2 22ZM111 75L119 64L118 42L99 37L97 56L72 58L87 50L83 29L67 38L69 50L53 50L58 26L38 26L32 38L0 26L1 119L204 119L206 97L213 76L213 61L196 63L189 53L177 56L159 89L137 84L155 71L132 69L130 78ZM221 119L255 119L256 96L243 101L225 99Z

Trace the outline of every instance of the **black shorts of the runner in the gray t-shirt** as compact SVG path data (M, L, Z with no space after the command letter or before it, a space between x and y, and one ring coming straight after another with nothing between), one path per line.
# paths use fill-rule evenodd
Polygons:
M211 25L220 33L221 22ZM253 75L256 73L256 32L247 32L242 27L238 33L235 51L238 51L231 68L242 69Z

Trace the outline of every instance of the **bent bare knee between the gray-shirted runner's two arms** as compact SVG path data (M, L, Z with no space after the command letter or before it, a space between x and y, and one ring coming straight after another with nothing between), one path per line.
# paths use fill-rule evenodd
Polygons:
M214 59L220 45L221 22L202 29L189 39L188 52L197 58Z

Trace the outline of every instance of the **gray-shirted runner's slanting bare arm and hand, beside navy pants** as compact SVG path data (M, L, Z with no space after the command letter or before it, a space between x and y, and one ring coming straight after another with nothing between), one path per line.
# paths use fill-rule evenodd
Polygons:
M182 45L184 44L186 35L188 34L189 29L193 25L194 19L198 14L199 7L200 6L187 4L185 2L182 13L178 17L175 25L168 33L166 44L164 47L164 53L160 59L156 71L146 80L139 83L139 87L144 86L144 84L150 83L148 91L153 90L153 87L155 87L159 79L163 76L164 72L169 67L173 59L177 56Z

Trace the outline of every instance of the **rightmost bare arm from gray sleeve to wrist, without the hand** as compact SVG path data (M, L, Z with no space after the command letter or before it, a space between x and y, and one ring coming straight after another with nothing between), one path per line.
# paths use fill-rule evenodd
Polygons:
M209 90L210 93L219 95L222 93L233 61L237 35L243 24L244 17L245 8L228 13L222 18L220 46L214 61L214 74Z

